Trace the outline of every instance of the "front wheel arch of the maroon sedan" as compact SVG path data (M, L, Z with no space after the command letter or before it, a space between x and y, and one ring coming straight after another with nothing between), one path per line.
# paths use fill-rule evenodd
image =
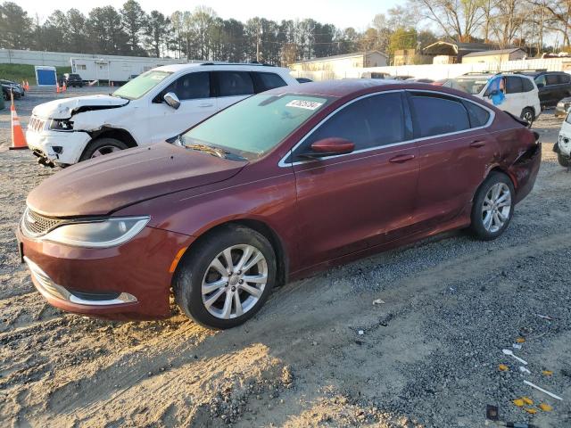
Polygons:
M245 226L252 230L255 230L259 234L263 235L271 244L274 252L276 253L276 267L277 267L277 278L276 278L276 286L282 286L287 283L287 277L289 272L289 255L285 248L285 243L281 239L277 232L269 226L266 222L260 219L253 219L253 218L237 218L228 221L223 221L219 224L211 226L211 228L204 230L194 241L191 243L184 252L182 259L186 257L190 251L193 251L197 245L202 243L206 238L210 235L218 232L220 229L223 229L228 226ZM178 263L176 271L181 266L181 263ZM176 272L173 278L176 276Z

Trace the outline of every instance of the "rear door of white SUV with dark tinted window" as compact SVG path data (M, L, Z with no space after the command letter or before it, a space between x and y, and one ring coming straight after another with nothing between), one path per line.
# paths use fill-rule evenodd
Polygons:
M213 71L212 78L216 91L218 111L255 93L252 76L249 71Z

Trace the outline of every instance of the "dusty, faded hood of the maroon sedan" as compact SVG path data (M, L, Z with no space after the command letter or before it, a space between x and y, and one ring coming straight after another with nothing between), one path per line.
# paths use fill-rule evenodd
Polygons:
M154 144L62 169L29 193L27 203L46 217L103 216L163 194L228 180L247 163Z

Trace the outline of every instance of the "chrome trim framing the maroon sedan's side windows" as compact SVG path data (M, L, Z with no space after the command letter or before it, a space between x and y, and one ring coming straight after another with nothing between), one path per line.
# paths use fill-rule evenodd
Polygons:
M315 127L313 127L310 132L308 132L305 136L303 136L303 138L297 142L297 144L294 145L294 147L292 147L286 154L284 157L282 157L282 159L279 160L279 162L277 163L277 166L280 168L288 168L288 167L294 167L296 165L302 165L304 163L309 163L309 162L314 162L313 160L308 160L308 161L295 161L295 162L285 162L285 160L294 154L295 149L297 149L301 144L303 144L303 142L308 139L319 127L321 127L325 122L327 122L328 119L331 119L331 117L333 117L337 112L342 111L345 107L347 107L348 105L351 105L352 103L356 103L362 99L368 98L370 96L375 96L375 95L383 95L383 94L391 94L391 93L395 93L395 92L400 92L400 93L405 93L405 92L421 92L421 93L426 93L429 95L444 95L444 96L450 96L452 98L456 98L459 101L466 101L468 103L473 103L475 104L477 107L480 107L482 109L484 109L485 111L488 111L488 113L490 113L490 117L488 118L488 121L481 127L476 127L476 128L468 128L468 129L462 129L461 131L455 131L455 132L449 132L447 134L437 134L435 136L423 136L420 138L413 138L411 140L405 140L405 141L401 141L399 143L393 143L393 144L383 144L383 145L376 145L375 147L368 147L367 149L361 149L361 150L356 150L354 152L351 153L345 153L345 154L336 154L333 156L325 156L323 158L319 158L320 160L328 160L328 159L333 159L333 158L342 158L343 156L349 156L351 154L355 154L355 153L364 153L364 152L371 152L373 150L378 150L381 148L389 148L389 147L397 147L400 145L405 145L405 144L412 144L412 143L418 143L420 141L425 141L431 138L435 138L438 136L455 136L455 135L459 135L459 134L464 134L467 132L471 132L471 131L476 131L478 129L484 129L484 128L489 128L492 125L493 120L495 119L495 111L492 111L492 109L488 108L485 105L482 105L481 103L476 103L472 100L468 100L467 98L463 98L461 96L458 95L452 95L452 94L447 94L445 92L440 92L440 91L434 91L434 90L429 90L429 89L392 89L389 91L382 91L382 92L375 92L372 94L366 94L366 95L361 95L358 98L355 98L353 100L351 100L349 103L344 103L342 106L338 107L335 109L335 111L332 111L331 113L329 113L327 115L326 118L322 119ZM468 113L468 111L467 111ZM469 113L468 113L469 114Z

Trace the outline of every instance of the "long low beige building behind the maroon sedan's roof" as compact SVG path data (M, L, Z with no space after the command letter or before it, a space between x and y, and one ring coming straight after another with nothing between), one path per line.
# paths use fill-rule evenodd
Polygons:
M386 53L367 51L294 62L289 65L289 68L294 71L334 71L352 68L385 67L387 63L388 55Z

